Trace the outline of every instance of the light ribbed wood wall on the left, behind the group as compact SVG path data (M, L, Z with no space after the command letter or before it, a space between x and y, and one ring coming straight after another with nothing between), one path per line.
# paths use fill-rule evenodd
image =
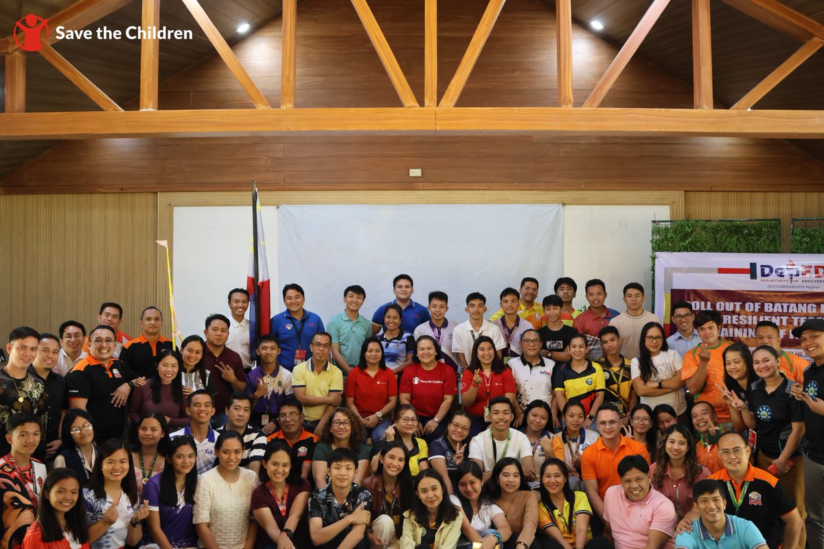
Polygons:
M137 335L143 307L168 309L156 235L154 193L0 198L0 341L20 325L91 328L103 301L123 305L121 329Z

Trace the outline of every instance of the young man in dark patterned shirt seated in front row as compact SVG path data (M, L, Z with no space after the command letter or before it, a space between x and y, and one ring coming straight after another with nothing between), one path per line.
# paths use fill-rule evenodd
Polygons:
M331 482L309 498L311 542L318 549L367 549L372 494L353 482L355 456L350 449L334 449L327 464Z

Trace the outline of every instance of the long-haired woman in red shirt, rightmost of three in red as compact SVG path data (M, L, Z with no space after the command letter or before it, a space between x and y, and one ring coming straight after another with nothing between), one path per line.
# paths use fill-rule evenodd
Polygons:
M466 412L472 419L471 436L486 429L489 423L487 404L495 397L515 403L515 377L503 364L491 337L481 336L472 346L472 360L461 377L461 393ZM517 408L516 408L517 409Z

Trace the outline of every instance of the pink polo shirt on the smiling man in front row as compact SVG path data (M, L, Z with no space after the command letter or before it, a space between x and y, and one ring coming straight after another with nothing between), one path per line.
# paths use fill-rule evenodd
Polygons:
M638 502L626 499L623 486L610 486L604 495L604 520L610 521L616 549L644 549L650 530L670 536L667 549L674 549L672 535L677 524L672 501L652 486Z

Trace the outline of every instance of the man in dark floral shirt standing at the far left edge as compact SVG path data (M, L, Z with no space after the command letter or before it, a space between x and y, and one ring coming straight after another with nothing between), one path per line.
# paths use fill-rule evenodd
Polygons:
M43 426L48 421L46 390L43 380L28 372L35 361L40 333L21 326L8 335L8 361L0 370L0 456L9 451L6 421L16 412L27 412ZM32 450L34 451L34 450Z

